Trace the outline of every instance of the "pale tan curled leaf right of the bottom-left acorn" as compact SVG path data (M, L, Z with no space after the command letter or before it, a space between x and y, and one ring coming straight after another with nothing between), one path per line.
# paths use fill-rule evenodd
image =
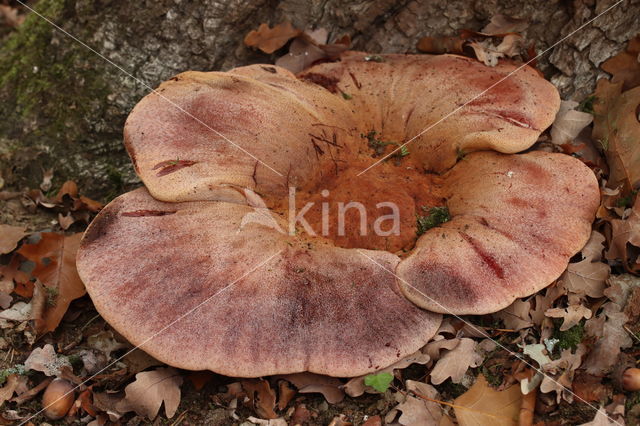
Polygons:
M116 404L120 412L135 411L141 416L154 419L164 402L168 418L176 413L180 404L182 376L174 368L158 368L136 374L136 380L124 389L125 397Z

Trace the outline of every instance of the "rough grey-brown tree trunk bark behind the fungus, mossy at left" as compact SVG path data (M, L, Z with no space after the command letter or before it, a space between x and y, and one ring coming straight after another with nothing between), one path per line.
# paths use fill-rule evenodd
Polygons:
M332 39L349 34L354 49L402 53L415 52L420 37L479 30L503 13L528 20L524 35L542 52L614 3L40 0L34 9L95 52L35 14L0 41L2 178L34 187L44 169L54 168L54 183L74 179L94 196L117 194L136 182L121 137L133 105L150 87L185 70L273 62L277 55L242 42L262 22L323 27ZM638 16L640 0L625 0L540 58L563 99L591 93L599 65L640 32Z

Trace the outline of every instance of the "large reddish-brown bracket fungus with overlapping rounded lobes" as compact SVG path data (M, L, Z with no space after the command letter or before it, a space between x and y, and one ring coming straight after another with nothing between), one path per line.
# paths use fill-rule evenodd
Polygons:
M125 144L145 188L102 210L77 259L118 332L186 369L356 376L421 348L442 313L494 312L562 273L596 178L516 154L556 89L507 62L376 58L185 72L140 101ZM450 220L419 230L428 208Z

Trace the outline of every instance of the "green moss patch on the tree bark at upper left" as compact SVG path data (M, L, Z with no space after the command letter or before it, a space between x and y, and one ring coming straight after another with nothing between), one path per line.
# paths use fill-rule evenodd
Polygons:
M71 0L41 0L35 8L86 39L90 26L71 27L74 5ZM103 116L104 100L111 93L101 62L34 13L0 45L0 134L3 143L18 144L15 153L0 160L0 168L12 169L17 179L10 184L37 186L40 171L51 167L57 179L79 180L84 170L78 162L88 158L87 146L96 146L100 137L91 123ZM25 152L30 154L19 155ZM28 164L14 157L37 160Z

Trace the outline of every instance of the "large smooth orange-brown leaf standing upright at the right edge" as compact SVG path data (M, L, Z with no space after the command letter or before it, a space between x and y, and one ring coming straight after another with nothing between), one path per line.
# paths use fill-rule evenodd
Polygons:
M598 80L593 137L605 148L609 188L620 185L629 194L640 182L640 87L622 93L622 83Z

